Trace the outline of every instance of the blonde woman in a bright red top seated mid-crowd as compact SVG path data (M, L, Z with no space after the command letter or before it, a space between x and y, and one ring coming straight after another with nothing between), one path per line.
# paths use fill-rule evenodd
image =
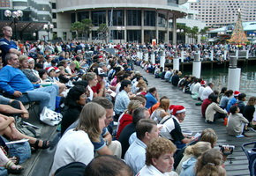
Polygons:
M124 127L132 123L132 113L133 111L138 108L142 107L142 103L139 100L131 100L128 104L127 110L124 111L124 114L120 115L120 118L118 120L118 126L117 126L117 139L119 138L122 130Z

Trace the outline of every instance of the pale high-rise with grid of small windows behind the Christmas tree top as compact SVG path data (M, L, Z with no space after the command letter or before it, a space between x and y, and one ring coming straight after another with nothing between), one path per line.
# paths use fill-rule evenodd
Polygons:
M190 9L199 11L198 18L206 26L227 26L237 21L238 9L242 21L256 20L255 0L189 0Z

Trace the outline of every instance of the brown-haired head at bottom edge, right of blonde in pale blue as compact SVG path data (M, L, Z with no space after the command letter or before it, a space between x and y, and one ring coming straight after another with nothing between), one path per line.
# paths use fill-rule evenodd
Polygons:
M197 176L226 176L226 171L222 167L222 153L216 149L204 152L198 158L195 172Z

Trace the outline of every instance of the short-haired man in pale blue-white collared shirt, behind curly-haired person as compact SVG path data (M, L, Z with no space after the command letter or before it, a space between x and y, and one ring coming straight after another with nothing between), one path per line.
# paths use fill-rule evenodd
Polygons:
M153 139L159 137L159 130L155 121L141 119L136 125L136 140L124 155L124 160L136 174L145 165L146 148Z

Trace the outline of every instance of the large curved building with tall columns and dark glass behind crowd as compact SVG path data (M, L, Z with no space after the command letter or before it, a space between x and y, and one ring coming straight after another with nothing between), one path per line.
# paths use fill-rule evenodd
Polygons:
M54 35L64 40L72 39L71 25L75 21L90 18L94 27L87 38L101 40L97 29L101 24L109 26L108 40L117 42L177 43L177 18L184 18L187 9L179 7L186 0L127 0L89 1L56 0L56 28ZM55 4L52 2L52 5ZM54 15L53 15L54 16Z

